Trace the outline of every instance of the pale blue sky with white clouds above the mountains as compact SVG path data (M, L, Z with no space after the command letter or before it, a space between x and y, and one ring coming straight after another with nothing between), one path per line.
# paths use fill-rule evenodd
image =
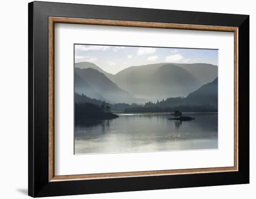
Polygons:
M75 45L75 63L88 61L108 73L118 73L130 66L140 66L161 62L208 63L218 65L218 50Z

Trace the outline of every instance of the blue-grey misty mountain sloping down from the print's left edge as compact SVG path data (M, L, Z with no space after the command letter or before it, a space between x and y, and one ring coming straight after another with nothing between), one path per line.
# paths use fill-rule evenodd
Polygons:
M118 87L114 82L109 80L105 76L105 74L100 73L98 70L95 70L93 68L83 68L83 69L75 68L74 71L76 74L80 76L83 82L86 82L85 85L87 86L87 88L85 89L90 90L89 91L90 93L101 93L103 99L107 100L108 102L132 103L140 100L135 98L134 95ZM80 78L78 78L78 82L76 83L77 85L80 85L82 83ZM81 90L76 90L75 92L82 94ZM101 99L101 98L91 96L90 94L86 94L86 95L88 97Z

